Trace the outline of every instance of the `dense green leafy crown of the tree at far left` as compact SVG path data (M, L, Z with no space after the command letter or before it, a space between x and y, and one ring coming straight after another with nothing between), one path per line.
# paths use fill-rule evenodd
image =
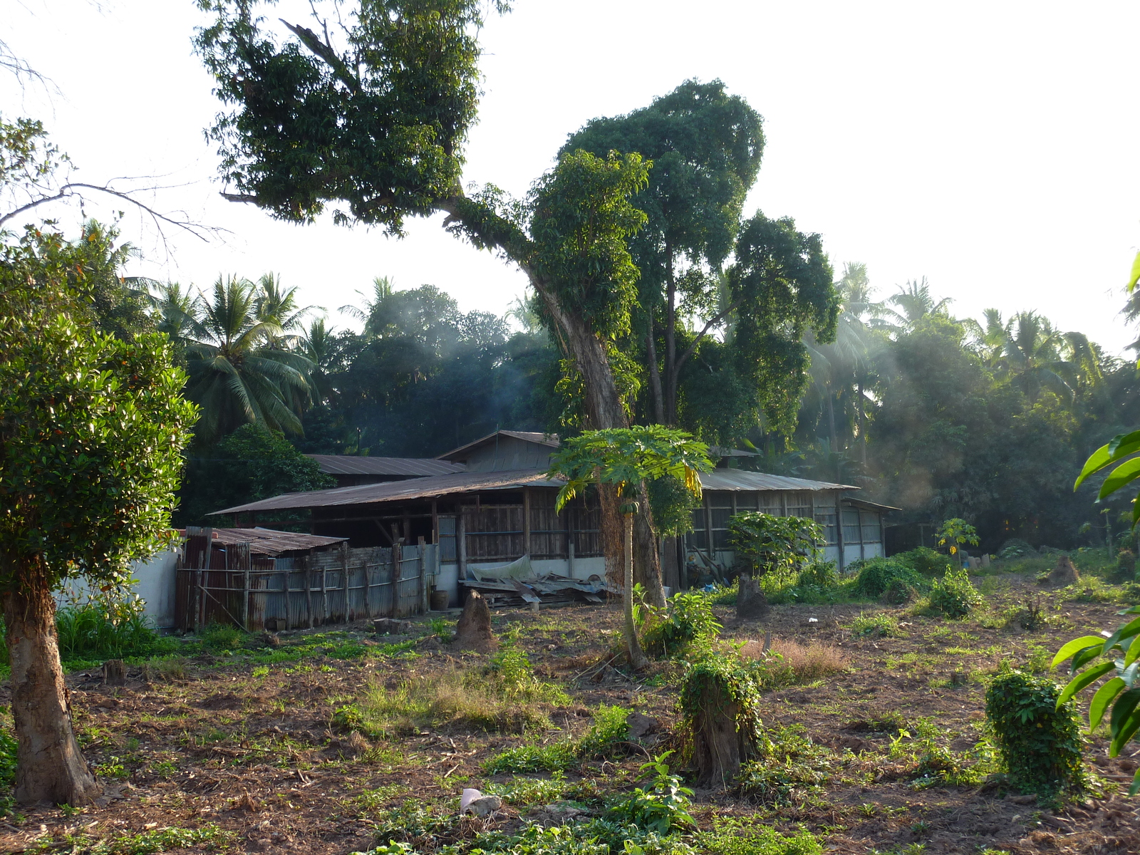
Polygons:
M0 256L0 548L6 584L116 581L163 543L194 407L165 339L101 335L58 235ZM11 573L16 573L13 578ZM39 583L36 583L39 584Z

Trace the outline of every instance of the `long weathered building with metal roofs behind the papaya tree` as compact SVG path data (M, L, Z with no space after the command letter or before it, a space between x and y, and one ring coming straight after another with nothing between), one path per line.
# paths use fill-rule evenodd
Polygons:
M451 592L472 571L528 556L538 573L576 579L605 576L596 503L577 498L562 513L554 499L562 481L546 475L557 437L498 431L438 459L464 471L402 481L294 492L217 511L242 523L272 524L284 511L309 511L312 534L347 537L353 547L438 544L435 587ZM360 458L368 459L368 458ZM724 459L724 458L723 458ZM857 487L739 469L701 474L703 500L693 531L662 544L669 587L687 587L732 568L727 522L741 511L816 520L824 555L842 569L883 554L883 518L891 510L856 498Z

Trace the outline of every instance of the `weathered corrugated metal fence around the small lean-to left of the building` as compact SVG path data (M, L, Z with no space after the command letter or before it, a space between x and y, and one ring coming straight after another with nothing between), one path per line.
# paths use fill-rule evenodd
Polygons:
M210 624L277 632L406 617L426 611L439 569L433 544L351 549L345 542L271 559L251 555L249 544L207 548L209 529L187 535L176 601L176 625L187 632Z

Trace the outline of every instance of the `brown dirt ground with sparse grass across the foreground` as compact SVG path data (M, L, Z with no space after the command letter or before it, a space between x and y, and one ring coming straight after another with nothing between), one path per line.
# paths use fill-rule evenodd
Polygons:
M726 640L767 635L774 643L833 645L849 667L764 695L765 727L803 725L826 749L830 765L820 780L793 790L790 804L699 790L698 821L755 815L781 830L806 828L836 853L1140 852L1140 798L1123 795L1137 758L1109 759L1101 735L1091 736L1085 751L1094 773L1092 793L1058 812L992 783L919 785L905 752L891 751L893 743L907 739L899 728L913 735L926 722L940 744L968 756L984 735L985 675L1002 660L1040 668L1064 641L1114 628L1122 608L1066 600L1023 577L990 577L983 592L987 609L963 621L918 616L906 606L798 604L774 606L764 620L741 624L731 606L718 606ZM999 626L1003 609L1039 595L1049 617L1044 628L1026 632L1016 621ZM854 637L848 628L854 618L883 611L899 621L904 636ZM413 633L405 644L376 641L365 625L328 627L324 652L312 649L312 636L321 630L283 634L278 658L291 645L309 644L308 654L294 661L272 661L269 646L201 652L182 666L135 668L128 685L117 689L104 686L93 671L71 674L76 730L106 797L80 812L41 806L9 814L0 823L0 849L155 852L154 845L114 848L112 841L184 829L190 830L184 838L154 839L165 848L188 844L182 850L339 855L376 845L377 809L457 799L464 787L482 788L492 780L482 771L488 758L536 738L551 742L580 735L598 703L632 707L654 719L663 748L677 722L681 666L659 663L629 677L605 665L619 617L608 605L495 613L495 630L521 627L519 644L536 674L571 698L551 715L553 726L538 734L425 730L366 750L332 727L334 711L369 686L430 681L487 661L442 643L429 632L426 618L417 619L426 634L416 641ZM333 637L333 629L343 632ZM351 656L342 658L345 652ZM6 700L0 697L0 703ZM635 756L584 763L568 777L629 789L642 762ZM479 824L474 830L510 830L527 812L507 804L494 820L472 822Z

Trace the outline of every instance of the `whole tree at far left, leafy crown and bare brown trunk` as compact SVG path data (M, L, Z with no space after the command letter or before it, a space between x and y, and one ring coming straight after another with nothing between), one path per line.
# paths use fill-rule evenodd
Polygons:
M95 332L76 247L28 229L0 249L0 602L16 799L98 795L72 730L52 589L124 583L170 535L196 416L164 335Z

